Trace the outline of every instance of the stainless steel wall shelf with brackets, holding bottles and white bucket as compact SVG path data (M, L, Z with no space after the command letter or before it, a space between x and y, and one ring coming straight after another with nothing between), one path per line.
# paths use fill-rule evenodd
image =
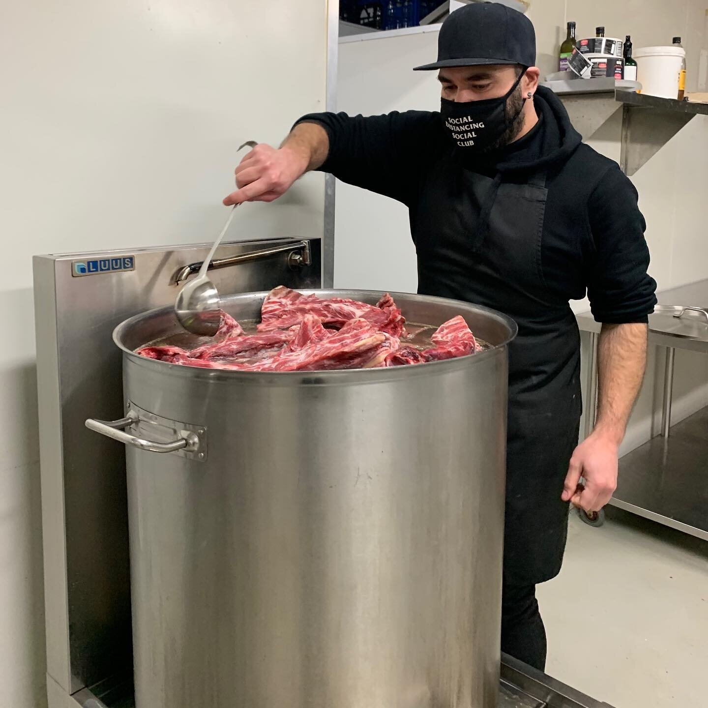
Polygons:
M558 94L571 122L588 140L622 110L617 135L619 165L632 176L695 115L708 115L708 103L676 101L636 93L639 84L615 79L571 79L543 84Z

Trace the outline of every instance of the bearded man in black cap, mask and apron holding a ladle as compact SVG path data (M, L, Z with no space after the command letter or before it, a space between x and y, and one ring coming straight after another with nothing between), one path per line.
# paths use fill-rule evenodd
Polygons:
M440 29L440 113L301 118L280 149L259 145L224 204L272 201L320 169L409 207L418 292L505 312L510 346L502 649L543 669L535 586L560 571L568 502L610 500L639 391L656 283L644 219L617 164L581 144L538 85L521 13L475 3ZM384 237L384 236L382 236ZM569 299L603 323L598 420L578 447L580 338ZM581 477L584 485L580 485ZM578 612L582 612L582 603Z

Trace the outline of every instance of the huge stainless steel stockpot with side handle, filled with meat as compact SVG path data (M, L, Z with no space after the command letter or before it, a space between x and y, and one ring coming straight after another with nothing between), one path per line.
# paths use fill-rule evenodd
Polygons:
M253 319L263 297L224 309ZM135 355L178 331L169 308L115 330L125 418L87 425L127 443L137 708L496 706L516 327L394 297L409 321L462 314L492 348L233 372Z

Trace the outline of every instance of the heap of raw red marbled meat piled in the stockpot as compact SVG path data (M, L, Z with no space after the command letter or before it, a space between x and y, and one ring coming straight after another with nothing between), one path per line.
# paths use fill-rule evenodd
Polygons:
M224 312L217 336L207 345L192 350L147 346L137 353L206 369L321 371L421 364L464 356L480 348L461 316L438 327L428 340L434 346L401 346L405 320L388 294L374 306L277 287L265 298L262 312L263 321L255 334L244 333Z

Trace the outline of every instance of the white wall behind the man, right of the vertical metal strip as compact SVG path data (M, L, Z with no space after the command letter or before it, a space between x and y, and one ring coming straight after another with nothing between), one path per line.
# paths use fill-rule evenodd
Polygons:
M708 0L629 0L593 4L579 0L534 2L529 13L537 30L538 63L544 74L556 71L556 47L565 37L566 21L578 22L578 36L605 24L608 36L632 34L635 47L669 43L682 35L687 50L689 90L695 89L699 51ZM562 38L561 38L562 34ZM387 113L389 110L438 110L433 73L411 67L435 57L437 33L341 42L338 110ZM615 113L590 144L619 159L621 112ZM690 122L632 178L647 221L650 273L658 287L685 285L708 278L708 118ZM416 256L406 208L392 200L337 183L336 287L415 292ZM587 309L586 301L573 309ZM583 353L586 346L583 346ZM661 424L663 350L652 351L644 389L622 452L658 432ZM708 404L708 357L679 351L676 356L673 421Z

